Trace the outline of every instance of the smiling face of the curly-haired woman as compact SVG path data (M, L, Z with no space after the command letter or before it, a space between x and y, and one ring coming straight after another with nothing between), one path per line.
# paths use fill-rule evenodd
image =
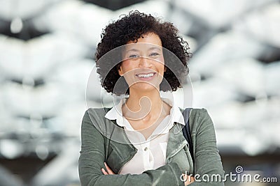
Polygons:
M123 52L124 61L118 70L130 86L130 90L160 90L165 72L162 42L155 33L146 33L137 42L127 42Z

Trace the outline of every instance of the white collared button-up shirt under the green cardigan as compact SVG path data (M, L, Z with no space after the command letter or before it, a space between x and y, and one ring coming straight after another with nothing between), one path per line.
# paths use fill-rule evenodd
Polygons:
M166 98L162 98L162 100L169 104L172 109L148 139L145 139L141 132L134 130L130 122L123 116L122 105L125 100L121 100L105 115L105 118L116 120L118 125L124 127L127 138L137 148L136 155L123 166L120 174L139 174L165 165L169 130L173 127L174 122L182 125L185 125L185 122L179 107L174 105L174 102Z

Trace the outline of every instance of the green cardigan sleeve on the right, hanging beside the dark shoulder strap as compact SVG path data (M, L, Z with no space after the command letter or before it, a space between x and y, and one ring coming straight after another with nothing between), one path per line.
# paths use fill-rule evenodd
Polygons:
M197 179L190 186L196 185L224 185L224 171L221 157L216 145L214 123L207 109L197 109L193 121L192 139L195 142L195 174Z

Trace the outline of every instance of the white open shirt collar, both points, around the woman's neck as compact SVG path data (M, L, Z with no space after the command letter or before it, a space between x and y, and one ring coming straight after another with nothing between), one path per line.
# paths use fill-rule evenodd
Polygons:
M168 118L165 118L165 119L168 119L168 125L158 127L157 130L155 130L153 132L153 134L167 133L169 131L169 129L171 129L173 127L174 122L180 123L181 125L186 125L184 118L183 118L183 114L181 113L181 110L179 109L179 107L176 106L174 101L170 100L168 98L162 98L162 100L172 107L172 109L170 110L169 116L167 116ZM133 130L130 123L123 118L122 106L123 106L124 102L125 102L125 98L120 100L120 102L118 104L116 104L112 109L110 109L106 113L105 118L108 118L109 120L116 120L116 123L118 125L120 125L120 127L124 127L125 130Z

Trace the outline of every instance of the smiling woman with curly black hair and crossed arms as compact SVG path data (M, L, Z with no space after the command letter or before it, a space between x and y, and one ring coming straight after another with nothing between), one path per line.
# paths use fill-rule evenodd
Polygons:
M190 111L194 164L183 133L176 132L185 125L181 110L160 96L176 91L188 74L188 43L177 33L171 23L138 11L104 29L96 54L102 86L129 97L113 108L85 112L81 185L223 185L192 176L223 178L207 110Z

